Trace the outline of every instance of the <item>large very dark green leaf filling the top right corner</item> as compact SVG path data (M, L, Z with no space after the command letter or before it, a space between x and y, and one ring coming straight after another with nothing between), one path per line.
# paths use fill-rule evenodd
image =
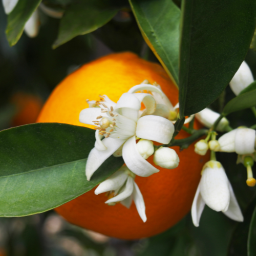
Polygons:
M240 67L255 29L254 0L182 1L180 115L215 101Z

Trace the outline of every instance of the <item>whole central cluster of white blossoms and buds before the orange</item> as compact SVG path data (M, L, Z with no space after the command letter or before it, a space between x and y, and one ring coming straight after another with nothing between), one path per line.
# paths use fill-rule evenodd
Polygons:
M125 166L102 182L95 194L109 191L111 198L106 203L121 202L126 207L134 200L141 219L146 221L143 197L134 179L136 175L148 177L159 172L146 161L153 154L157 166L173 169L179 165L177 153L165 147L173 138L178 106L173 107L159 85L147 81L122 94L117 103L103 95L99 101L88 100L88 104L79 116L80 122L93 124L96 129L95 147L86 165L87 179L111 155L122 156ZM165 146L154 146L153 141Z

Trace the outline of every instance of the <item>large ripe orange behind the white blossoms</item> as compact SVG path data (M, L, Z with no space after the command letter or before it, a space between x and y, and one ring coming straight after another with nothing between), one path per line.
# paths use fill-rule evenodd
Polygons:
M99 94L115 102L131 87L148 79L157 82L175 105L178 90L161 66L133 53L111 54L92 61L66 77L53 91L37 122L60 122L86 127L79 113L88 108L86 99L98 100ZM199 127L199 124L195 122ZM177 138L188 134L181 131ZM146 205L147 221L140 219L135 204L130 209L121 204L104 204L104 194L96 196L92 189L55 210L69 222L107 236L140 239L160 233L181 220L191 208L200 180L200 172L208 156L194 153L194 145L179 152L180 164L175 169L160 169L147 178L136 177ZM153 165L153 156L148 159ZM86 177L84 177L86 179ZM74 184L75 186L75 184Z

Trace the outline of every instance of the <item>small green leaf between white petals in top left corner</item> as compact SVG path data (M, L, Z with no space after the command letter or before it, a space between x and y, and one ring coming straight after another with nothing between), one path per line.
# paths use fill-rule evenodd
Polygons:
M6 36L10 46L14 46L22 36L24 27L41 0L18 1L13 11L8 15Z

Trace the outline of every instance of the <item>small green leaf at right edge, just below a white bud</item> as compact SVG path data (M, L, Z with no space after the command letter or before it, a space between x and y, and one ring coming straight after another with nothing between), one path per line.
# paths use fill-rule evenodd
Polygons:
M240 94L236 98L231 99L225 105L222 115L226 116L232 112L244 110L256 106L256 89Z

